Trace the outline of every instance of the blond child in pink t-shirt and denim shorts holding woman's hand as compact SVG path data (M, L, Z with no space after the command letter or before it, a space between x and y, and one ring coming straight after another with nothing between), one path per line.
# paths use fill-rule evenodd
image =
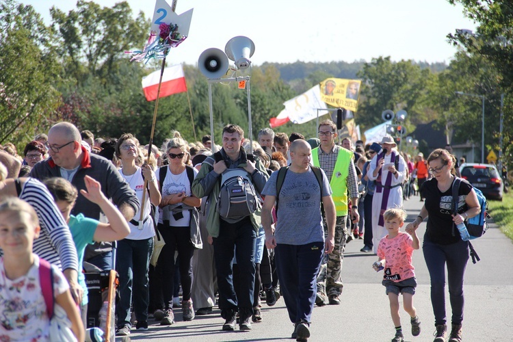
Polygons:
M390 313L395 325L395 337L392 342L402 342L404 337L399 316L399 293L403 295L404 311L411 317L412 335L419 336L421 333L421 322L413 306L417 281L415 267L412 265L413 250L419 249L420 242L417 237L417 228L410 226L406 228L406 233L399 231L406 219L404 210L388 209L384 212L383 218L388 235L380 240L378 261L373 263L372 267L376 272L384 269L382 285L389 296Z

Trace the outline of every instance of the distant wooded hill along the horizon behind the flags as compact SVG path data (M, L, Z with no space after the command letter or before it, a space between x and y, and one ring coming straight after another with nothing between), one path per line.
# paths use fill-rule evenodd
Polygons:
M316 72L323 72L332 77L341 79L354 79L356 73L363 68L365 61L355 61L352 63L348 62L324 62L324 63L313 63L313 62L293 62L293 63L269 63L265 62L262 66L275 66L280 71L280 77L286 82L293 81L295 79L306 79L309 75ZM444 62L428 63L428 62L413 62L421 66L421 68L429 68L432 73L440 73L440 71L447 68L447 64Z

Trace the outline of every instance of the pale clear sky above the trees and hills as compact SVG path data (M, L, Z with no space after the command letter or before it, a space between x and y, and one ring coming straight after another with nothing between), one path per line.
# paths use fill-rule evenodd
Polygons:
M47 23L51 6L65 12L76 6L74 0L18 1L33 5ZM95 2L111 7L118 1ZM128 3L134 15L143 11L153 18L154 1ZM370 62L379 56L448 63L456 48L447 42L447 34L475 29L462 7L447 0L179 0L176 12L190 8L194 14L189 37L170 52L170 64L196 64L202 51L224 50L233 36L254 41L251 60L257 65L297 60Z

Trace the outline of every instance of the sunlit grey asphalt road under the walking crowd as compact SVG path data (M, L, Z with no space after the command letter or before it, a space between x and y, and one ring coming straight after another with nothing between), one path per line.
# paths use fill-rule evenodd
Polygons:
M418 215L423 202L412 197L404 203L408 213L407 222ZM423 239L425 223L418 231ZM513 341L513 244L501 233L499 227L490 224L490 229L473 246L481 257L477 264L466 267L465 308L463 341ZM389 312L389 300L381 285L381 273L371 265L373 254L360 252L363 240L351 241L345 250L343 280L345 287L341 304L315 307L312 316L309 341L390 341L395 334ZM417 276L417 293L413 298L422 322L419 337L412 337L408 314L401 312L405 341L433 341L434 315L430 302L430 278L425 266L422 250L413 254ZM446 290L448 317L451 309ZM250 332L223 332L224 320L220 311L198 316L193 321L181 319L181 309L175 311L176 323L162 327L158 322L148 321L147 332L132 330L129 337L116 341L293 341L290 339L293 326L282 299L275 306L263 304L263 321L252 324ZM449 319L450 321L450 319Z

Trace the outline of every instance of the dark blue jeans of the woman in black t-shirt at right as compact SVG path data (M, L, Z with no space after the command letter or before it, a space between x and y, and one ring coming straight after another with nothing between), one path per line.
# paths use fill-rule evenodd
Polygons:
M435 324L445 324L445 264L452 308L452 324L463 321L463 278L469 261L469 243L460 240L455 244L440 245L424 239L424 259L431 278L431 303Z

